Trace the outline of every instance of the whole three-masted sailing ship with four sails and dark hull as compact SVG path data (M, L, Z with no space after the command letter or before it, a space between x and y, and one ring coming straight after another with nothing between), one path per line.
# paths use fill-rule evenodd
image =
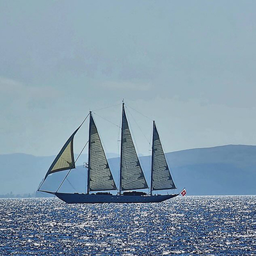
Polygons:
M74 160L73 141L76 132L83 125L89 116L89 140L88 143L88 174L86 193L60 193L59 189L70 171L76 168ZM158 195L158 191L176 189L170 169L164 156L163 147L157 132L156 123L153 121L152 134L152 158L150 170L150 186L147 184L145 175L141 168L140 160L132 141L127 116L125 113L124 101L122 103L122 132L121 132L121 154L119 170L119 186L113 179L109 168L108 159L100 141L99 132L95 125L92 111L86 116L83 123L68 138L59 154L52 162L38 191L51 193L68 204L86 203L150 203L163 202L179 194ZM86 144L87 144L86 143ZM80 153L81 155L81 153ZM79 155L79 156L80 156ZM52 173L69 170L60 186L55 192L46 191L42 188L48 175ZM138 189L148 190L148 193L137 191ZM102 192L103 191L103 192ZM105 191L105 192L104 192ZM110 192L111 191L111 192Z

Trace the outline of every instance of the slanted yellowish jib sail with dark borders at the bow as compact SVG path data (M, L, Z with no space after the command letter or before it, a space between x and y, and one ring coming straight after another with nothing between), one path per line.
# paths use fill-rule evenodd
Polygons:
M46 179L47 176L51 173L76 168L76 164L74 161L73 141L74 141L74 136L79 128L80 127L78 127L76 131L73 132L73 134L67 140L65 145L61 148L60 153L58 154L58 156L56 156L56 158L52 162L44 179Z

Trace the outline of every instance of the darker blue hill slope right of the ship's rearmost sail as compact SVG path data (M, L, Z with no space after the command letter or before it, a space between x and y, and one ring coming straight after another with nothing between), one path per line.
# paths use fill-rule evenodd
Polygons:
M190 195L256 195L256 146L227 145L168 153L177 185Z

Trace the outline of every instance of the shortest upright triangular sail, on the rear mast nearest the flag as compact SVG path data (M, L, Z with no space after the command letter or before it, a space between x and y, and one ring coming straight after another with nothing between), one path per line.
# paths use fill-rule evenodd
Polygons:
M153 145L152 145L152 190L175 189L168 164L166 162L163 147L153 124Z

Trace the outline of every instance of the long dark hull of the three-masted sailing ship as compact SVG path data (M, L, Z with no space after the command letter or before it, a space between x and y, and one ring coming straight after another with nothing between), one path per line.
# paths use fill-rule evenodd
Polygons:
M173 195L88 195L88 194L70 194L54 193L58 198L67 204L102 204L102 203L158 203L173 198L179 194Z

